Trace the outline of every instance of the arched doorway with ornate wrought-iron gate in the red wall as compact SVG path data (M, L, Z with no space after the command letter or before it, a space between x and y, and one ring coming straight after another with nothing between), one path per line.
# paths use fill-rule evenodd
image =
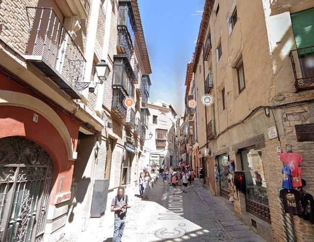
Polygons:
M42 147L25 137L0 139L0 241L42 241L52 178Z

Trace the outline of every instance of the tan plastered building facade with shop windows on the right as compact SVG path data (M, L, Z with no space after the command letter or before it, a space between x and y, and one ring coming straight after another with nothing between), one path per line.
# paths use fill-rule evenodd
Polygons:
M311 0L206 0L187 74L207 185L266 241L314 240L313 224L283 211L278 158L303 157L304 191L313 195L313 9ZM251 181L246 194L230 171Z

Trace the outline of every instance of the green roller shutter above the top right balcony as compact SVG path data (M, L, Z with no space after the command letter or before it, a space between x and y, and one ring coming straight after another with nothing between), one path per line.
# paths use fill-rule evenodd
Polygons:
M296 46L305 48L299 55L314 54L314 8L291 14L291 20Z

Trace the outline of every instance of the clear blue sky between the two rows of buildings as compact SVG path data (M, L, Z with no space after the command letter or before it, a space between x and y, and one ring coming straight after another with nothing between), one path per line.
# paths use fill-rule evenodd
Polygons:
M184 113L186 65L192 60L205 0L138 0L153 73L150 101Z

